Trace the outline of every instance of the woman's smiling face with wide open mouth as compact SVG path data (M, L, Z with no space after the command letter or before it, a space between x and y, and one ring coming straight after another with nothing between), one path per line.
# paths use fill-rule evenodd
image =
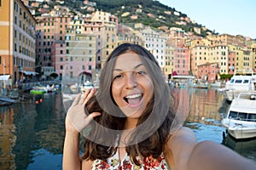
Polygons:
M153 82L139 55L119 55L113 69L112 95L125 116L139 118L153 94Z

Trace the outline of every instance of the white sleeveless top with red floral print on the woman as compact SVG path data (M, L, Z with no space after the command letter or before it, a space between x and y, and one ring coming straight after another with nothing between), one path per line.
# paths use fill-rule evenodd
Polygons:
M140 159L138 159L140 160ZM96 160L93 162L91 169L93 170L164 170L169 169L163 154L154 159L152 156L148 156L143 159L143 164L137 166L133 164L130 157L125 154L123 160L119 163L119 155L116 153L112 157L108 158L108 161Z

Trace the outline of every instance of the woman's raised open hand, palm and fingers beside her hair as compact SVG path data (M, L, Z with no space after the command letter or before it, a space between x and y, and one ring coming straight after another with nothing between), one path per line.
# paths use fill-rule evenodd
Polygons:
M67 133L80 133L95 116L100 116L101 113L93 112L86 116L84 112L84 105L96 93L96 89L88 89L82 95L79 94L73 101L73 104L67 111L66 116L66 132Z

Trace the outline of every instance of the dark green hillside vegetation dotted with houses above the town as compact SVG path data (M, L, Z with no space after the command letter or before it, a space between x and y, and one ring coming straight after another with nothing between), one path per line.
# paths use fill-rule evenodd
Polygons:
M158 28L160 26L167 26L170 27L179 27L182 28L184 31L193 31L194 27L202 27L200 24L187 22L187 25L177 25L176 22L180 22L180 18L187 17L187 14L183 14L179 12L179 16L173 14L176 11L175 8L168 7L164 4L161 4L155 0L90 0L91 3L96 3L96 9L108 12L110 14L114 14L119 18L119 23L143 23L146 26L152 26L154 28ZM56 3L53 1L49 4L50 8ZM65 0L64 4L60 4L71 8L71 10L79 11L82 14L88 14L90 12L81 9L80 7L85 6L84 0ZM142 8L142 12L137 12L137 9ZM123 7L123 8L122 8ZM171 12L172 14L166 14L165 11ZM125 12L129 12L129 16L122 16ZM131 15L136 14L138 19L132 20ZM154 17L149 17L148 14L153 14ZM202 31L199 36L206 37L207 31ZM212 31L210 31L212 32ZM212 32L214 33L214 32Z

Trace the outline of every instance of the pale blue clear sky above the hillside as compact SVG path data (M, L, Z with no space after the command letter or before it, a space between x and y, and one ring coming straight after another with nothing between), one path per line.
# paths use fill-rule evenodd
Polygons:
M256 0L158 0L219 34L256 38Z

